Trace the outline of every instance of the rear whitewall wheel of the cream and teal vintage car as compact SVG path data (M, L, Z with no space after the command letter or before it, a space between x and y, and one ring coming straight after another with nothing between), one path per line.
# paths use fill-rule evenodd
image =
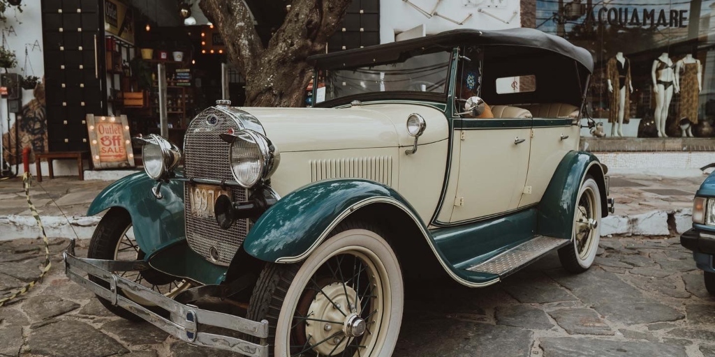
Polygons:
M582 273L591 268L600 240L601 191L596 180L587 175L578 189L571 243L558 250L563 268L571 273Z

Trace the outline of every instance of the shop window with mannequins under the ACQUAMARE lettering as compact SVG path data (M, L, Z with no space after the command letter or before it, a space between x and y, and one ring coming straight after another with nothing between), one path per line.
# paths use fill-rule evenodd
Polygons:
M609 136L714 136L715 1L537 0L536 26L593 54Z

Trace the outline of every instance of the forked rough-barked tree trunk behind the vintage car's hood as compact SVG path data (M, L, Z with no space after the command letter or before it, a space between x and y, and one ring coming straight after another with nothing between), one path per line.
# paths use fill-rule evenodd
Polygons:
M327 40L352 0L293 0L283 24L264 47L244 0L202 0L227 56L245 75L245 106L304 106L312 68L307 56Z

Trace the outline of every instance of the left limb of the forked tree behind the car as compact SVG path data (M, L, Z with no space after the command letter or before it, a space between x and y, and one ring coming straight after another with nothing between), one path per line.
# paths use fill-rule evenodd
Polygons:
M202 0L199 6L219 30L226 44L228 58L244 74L255 70L264 49L245 1Z

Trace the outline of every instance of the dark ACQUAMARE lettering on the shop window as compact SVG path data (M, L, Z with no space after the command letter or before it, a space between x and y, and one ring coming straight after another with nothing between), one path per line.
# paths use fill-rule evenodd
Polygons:
M586 9L586 23L611 26L688 27L687 10L601 6Z

